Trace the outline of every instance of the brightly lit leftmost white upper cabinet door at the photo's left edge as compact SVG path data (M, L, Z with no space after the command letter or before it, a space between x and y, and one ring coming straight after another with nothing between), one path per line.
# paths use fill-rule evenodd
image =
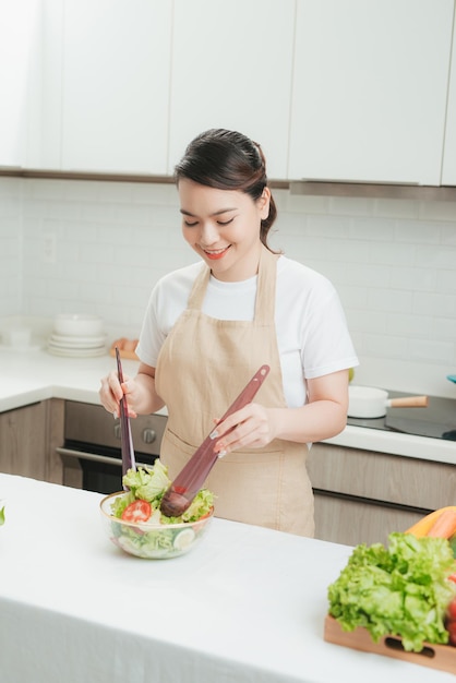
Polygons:
M0 2L0 167L60 169L63 0Z

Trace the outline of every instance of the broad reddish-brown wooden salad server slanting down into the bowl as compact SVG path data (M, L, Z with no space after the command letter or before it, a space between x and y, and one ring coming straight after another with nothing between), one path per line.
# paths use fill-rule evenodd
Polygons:
M269 366L262 366L260 370L255 372L219 422L247 406L254 398L268 372ZM218 453L214 451L215 443L215 439L211 439L211 435L206 436L201 446L194 452L190 460L176 477L161 499L160 511L164 515L167 517L180 517L190 506L219 457Z

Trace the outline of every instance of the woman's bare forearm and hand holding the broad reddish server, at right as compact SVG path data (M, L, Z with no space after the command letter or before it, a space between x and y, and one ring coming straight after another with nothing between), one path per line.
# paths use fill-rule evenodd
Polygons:
M217 424L216 451L262 447L274 439L311 443L329 439L347 423L348 370L308 380L309 403L300 408L249 404ZM236 427L232 432L229 430Z

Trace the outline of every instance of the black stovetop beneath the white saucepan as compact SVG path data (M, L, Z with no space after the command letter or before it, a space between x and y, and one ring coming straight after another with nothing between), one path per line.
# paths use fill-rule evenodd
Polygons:
M389 398L398 396L411 394L388 391ZM427 408L387 408L383 418L348 418L347 424L456 441L456 400L430 396Z

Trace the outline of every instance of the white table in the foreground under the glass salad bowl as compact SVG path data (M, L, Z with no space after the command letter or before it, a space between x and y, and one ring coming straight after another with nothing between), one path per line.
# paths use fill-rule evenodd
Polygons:
M101 498L0 475L1 683L454 683L323 640L350 548L214 519L188 555L137 560Z

